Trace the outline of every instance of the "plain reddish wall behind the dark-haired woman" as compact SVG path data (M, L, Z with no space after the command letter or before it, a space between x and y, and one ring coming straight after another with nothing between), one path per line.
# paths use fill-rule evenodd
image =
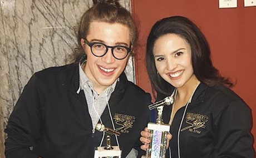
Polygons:
M243 5L243 1L238 1L237 8L219 9L218 1L132 0L132 13L140 33L135 57L136 83L152 94L145 68L146 38L152 25L164 17L188 17L201 28L208 39L215 67L225 77L237 81L233 90L252 109L252 133L255 137L256 7Z

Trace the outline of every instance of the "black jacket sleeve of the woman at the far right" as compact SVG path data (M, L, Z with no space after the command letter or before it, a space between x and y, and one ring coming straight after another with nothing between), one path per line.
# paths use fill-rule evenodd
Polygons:
M215 157L254 157L252 115L242 100L221 110L214 121Z

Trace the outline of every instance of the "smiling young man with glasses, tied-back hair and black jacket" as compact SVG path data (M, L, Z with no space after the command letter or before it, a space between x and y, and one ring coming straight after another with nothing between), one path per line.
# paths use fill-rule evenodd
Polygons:
M106 144L97 123L121 132L111 142L122 157L140 150L151 98L124 74L136 39L130 13L100 1L83 14L77 39L79 63L42 70L25 86L5 130L7 158L93 157Z

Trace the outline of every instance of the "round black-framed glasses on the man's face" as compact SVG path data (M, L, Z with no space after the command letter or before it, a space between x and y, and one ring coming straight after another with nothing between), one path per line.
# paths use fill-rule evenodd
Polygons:
M109 46L101 42L88 42L86 38L84 38L85 43L91 48L91 52L96 57L103 57L109 48L111 48L111 52L114 58L118 60L122 60L127 57L128 53L131 52L131 48L125 47L124 45L115 45Z

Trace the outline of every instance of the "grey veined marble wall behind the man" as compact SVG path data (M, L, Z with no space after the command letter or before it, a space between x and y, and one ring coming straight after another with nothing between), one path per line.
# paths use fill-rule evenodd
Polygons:
M92 0L0 0L0 157L8 116L33 73L71 63L76 26ZM130 0L120 3L130 11ZM126 73L134 81L133 59Z

